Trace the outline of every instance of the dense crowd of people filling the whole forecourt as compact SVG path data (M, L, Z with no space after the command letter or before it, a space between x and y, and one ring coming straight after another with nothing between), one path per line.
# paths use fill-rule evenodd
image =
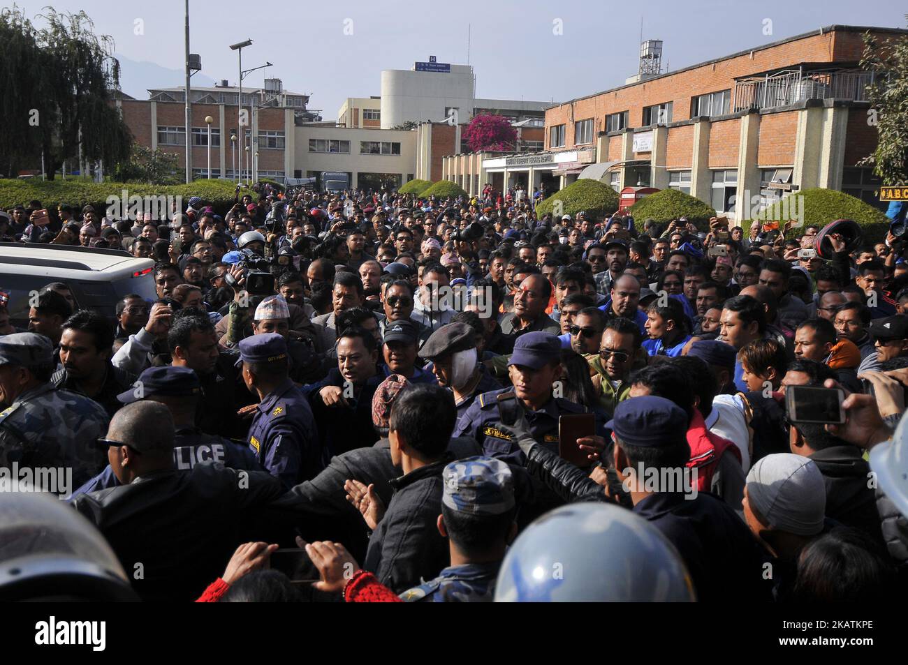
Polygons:
M223 216L0 217L4 241L154 261L156 298L115 319L63 281L27 331L0 305L0 468L64 471L58 528L100 533L91 574L119 585L57 595L901 592L902 237L539 198L256 186ZM793 417L792 386L841 388L845 422Z

